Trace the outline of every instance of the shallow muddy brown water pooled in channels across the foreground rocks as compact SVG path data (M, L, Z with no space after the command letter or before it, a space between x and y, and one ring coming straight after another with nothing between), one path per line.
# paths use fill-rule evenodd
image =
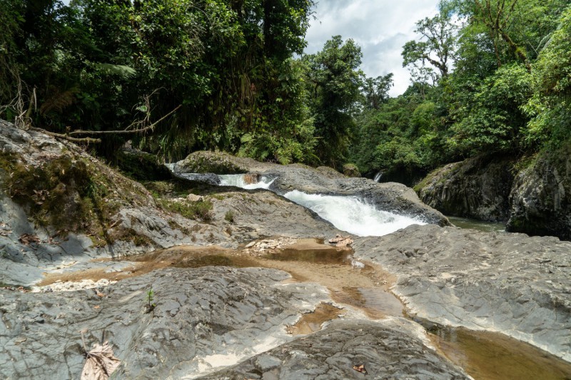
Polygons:
M221 247L173 247L124 257L122 260L132 262L132 266L123 272L106 273L105 269L91 269L48 274L41 285L81 279L121 280L166 267L267 267L289 272L292 276L290 282L317 282L329 289L335 302L358 309L371 319L406 315L403 304L389 292L395 276L369 262L363 262L362 268L356 268L352 259L350 249L332 247L315 239L299 240L293 245L255 255ZM322 303L286 329L290 334L310 334L321 329L324 322L344 313L343 309ZM530 344L498 333L439 327L422 320L416 322L427 329L440 354L462 367L474 379L571 380L570 363Z

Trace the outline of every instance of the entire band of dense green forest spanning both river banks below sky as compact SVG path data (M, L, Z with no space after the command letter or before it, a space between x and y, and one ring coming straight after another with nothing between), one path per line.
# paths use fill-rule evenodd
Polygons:
M113 159L225 150L422 175L571 138L567 0L444 0L403 46L413 83L367 78L351 39L304 54L312 0L0 1L0 118Z

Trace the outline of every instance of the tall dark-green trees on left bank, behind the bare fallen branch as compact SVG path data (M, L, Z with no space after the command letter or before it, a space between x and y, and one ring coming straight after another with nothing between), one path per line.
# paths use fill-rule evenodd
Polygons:
M6 0L0 4L0 117L27 109L35 126L63 132L144 126L181 105L133 143L168 157L219 148L244 133L277 131L305 143L302 53L311 0ZM7 52L7 54L6 54ZM21 101L11 104L23 81ZM153 94L149 101L144 97ZM2 108L1 106L6 105ZM131 125L133 128L133 125ZM129 138L133 135L128 136ZM125 142L103 135L112 158ZM305 153L278 144L283 160ZM295 145L295 144L294 144Z

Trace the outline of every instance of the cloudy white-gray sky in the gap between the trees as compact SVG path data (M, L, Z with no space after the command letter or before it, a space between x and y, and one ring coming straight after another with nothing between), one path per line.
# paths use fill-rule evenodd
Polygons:
M438 0L318 0L305 36L305 53L316 53L331 36L353 38L363 51L361 68L370 77L393 73L391 96L410 84L400 56L405 42L415 39L415 23L437 13Z

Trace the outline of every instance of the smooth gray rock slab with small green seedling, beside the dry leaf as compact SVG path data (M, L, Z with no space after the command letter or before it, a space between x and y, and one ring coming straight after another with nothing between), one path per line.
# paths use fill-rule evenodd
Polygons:
M108 342L116 379L179 379L291 339L292 324L328 299L313 284L281 284L274 269L163 269L97 289L21 293L0 289L4 379L79 379L86 344ZM152 286L156 307L146 314ZM302 306L305 305L305 306ZM221 360L219 357L230 359ZM266 361L269 363L269 361ZM271 365L271 364L266 364Z

